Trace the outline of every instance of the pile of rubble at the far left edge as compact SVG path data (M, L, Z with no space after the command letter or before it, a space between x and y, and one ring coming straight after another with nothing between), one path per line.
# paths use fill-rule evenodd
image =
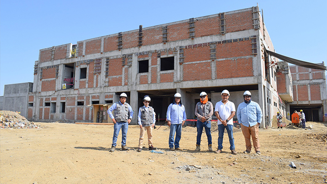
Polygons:
M18 112L0 111L0 128L40 128Z

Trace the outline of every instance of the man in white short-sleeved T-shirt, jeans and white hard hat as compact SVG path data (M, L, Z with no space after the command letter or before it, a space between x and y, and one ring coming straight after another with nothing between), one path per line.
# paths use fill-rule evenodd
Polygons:
M214 114L217 117L218 124L218 149L214 153L221 153L223 150L223 139L225 129L228 133L229 138L229 149L231 150L233 155L236 155L235 144L234 144L234 136L233 136L233 117L235 116L235 104L229 101L229 91L222 91L222 100L217 102L214 107Z

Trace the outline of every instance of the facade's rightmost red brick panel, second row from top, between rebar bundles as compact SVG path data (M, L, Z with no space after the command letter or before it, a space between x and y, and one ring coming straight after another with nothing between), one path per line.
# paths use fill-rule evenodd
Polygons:
M216 45L217 59L250 56L252 53L250 41L233 42Z

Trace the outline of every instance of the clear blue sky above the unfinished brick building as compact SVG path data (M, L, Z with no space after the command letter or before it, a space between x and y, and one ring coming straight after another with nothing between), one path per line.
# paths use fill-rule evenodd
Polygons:
M40 49L259 4L277 53L327 61L327 1L17 1L0 2L0 96L33 82ZM326 65L326 64L325 64Z

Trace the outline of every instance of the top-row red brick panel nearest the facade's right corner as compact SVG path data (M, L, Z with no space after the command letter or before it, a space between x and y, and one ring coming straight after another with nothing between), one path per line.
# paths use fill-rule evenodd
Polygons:
M225 14L226 32L253 29L252 11Z

